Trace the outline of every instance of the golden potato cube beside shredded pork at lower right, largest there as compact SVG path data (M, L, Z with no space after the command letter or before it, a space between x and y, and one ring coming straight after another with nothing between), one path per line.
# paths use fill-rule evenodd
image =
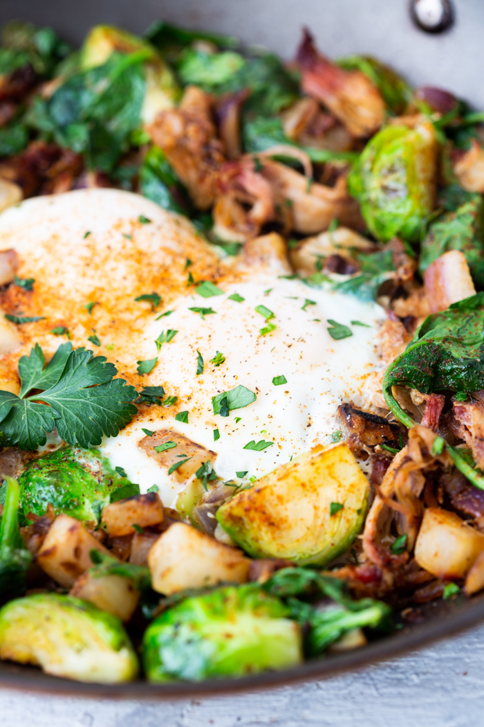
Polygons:
M464 578L484 550L484 535L455 513L440 507L424 512L415 560L421 568L441 579Z

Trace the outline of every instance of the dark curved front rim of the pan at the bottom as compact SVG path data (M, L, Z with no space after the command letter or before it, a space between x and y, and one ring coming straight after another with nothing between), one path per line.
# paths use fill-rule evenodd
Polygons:
M459 599L460 601L460 599ZM33 667L0 664L0 688L11 688L62 696L107 699L187 699L193 696L234 694L240 691L261 691L295 685L308 680L330 678L341 672L393 659L430 642L469 629L484 620L484 598L471 603L461 602L451 614L444 614L414 627L404 627L394 635L383 637L364 648L347 651L327 659L315 659L300 667L282 672L265 672L239 679L210 680L200 683L178 682L163 685L143 681L118 685L86 684L45 675Z

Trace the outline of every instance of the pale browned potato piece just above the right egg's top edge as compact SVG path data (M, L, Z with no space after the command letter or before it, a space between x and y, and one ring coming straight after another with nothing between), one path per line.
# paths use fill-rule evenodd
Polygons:
M350 228L340 227L333 232L321 232L301 240L290 250L290 260L298 273L310 276L316 273L316 263L321 257L334 254L350 256L352 249L371 252L374 243Z

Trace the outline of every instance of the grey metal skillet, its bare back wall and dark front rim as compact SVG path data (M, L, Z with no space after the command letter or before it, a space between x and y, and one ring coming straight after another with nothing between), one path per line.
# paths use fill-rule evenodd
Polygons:
M437 0L438 1L438 0ZM303 25L316 35L329 56L375 55L414 84L432 84L484 108L480 57L484 4L454 0L454 22L443 33L424 33L411 18L407 0L2 0L0 23L12 18L52 25L68 40L80 42L96 23L112 23L141 33L163 17L180 25L237 34L247 44L263 44L283 57L293 54ZM355 670L445 638L484 620L484 594L423 606L419 623L356 651L313 659L297 669L267 672L237 680L150 685L141 680L104 686L49 677L40 670L0 662L0 686L20 690L108 697L173 699L273 688L337 672Z

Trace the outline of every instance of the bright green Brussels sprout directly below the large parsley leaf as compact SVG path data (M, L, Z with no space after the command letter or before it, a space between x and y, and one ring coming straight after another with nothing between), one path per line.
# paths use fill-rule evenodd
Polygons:
M99 521L102 508L139 494L139 486L121 477L98 449L61 447L31 460L20 475L24 515L44 515L49 503L56 514Z

